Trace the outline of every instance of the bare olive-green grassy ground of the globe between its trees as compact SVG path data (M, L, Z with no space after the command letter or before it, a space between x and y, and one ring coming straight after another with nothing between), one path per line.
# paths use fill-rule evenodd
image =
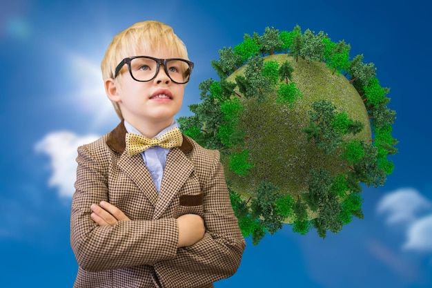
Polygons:
M322 62L308 63L306 60L280 54L264 57L266 61L277 61L282 65L288 61L293 66L292 82L302 92L292 108L277 102L277 93L267 93L264 101L255 98L242 99L244 112L239 128L247 135L244 146L255 165L247 177L240 177L229 167L228 157L224 158L226 179L233 189L242 195L250 195L264 180L272 182L291 195L308 192L306 184L309 171L324 167L332 175L348 172L348 164L337 154L325 155L313 142L308 142L302 132L310 122L308 112L314 102L328 100L336 111L345 111L349 117L364 124L363 130L355 136L364 142L371 141L371 124L364 102L357 90L343 75L332 74ZM235 82L242 75L242 66L226 80ZM350 137L346 137L348 140Z

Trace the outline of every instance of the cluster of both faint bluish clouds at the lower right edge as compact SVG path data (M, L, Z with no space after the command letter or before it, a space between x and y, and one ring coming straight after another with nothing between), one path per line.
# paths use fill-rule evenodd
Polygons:
M415 189L398 189L385 195L377 212L386 223L400 225L406 234L405 250L432 252L432 202Z

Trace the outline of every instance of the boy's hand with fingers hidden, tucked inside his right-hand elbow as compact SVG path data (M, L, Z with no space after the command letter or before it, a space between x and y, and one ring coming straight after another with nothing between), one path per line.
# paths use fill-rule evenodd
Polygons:
M177 247L186 247L195 244L204 237L206 227L204 220L195 214L185 214L177 218L179 227L179 242Z

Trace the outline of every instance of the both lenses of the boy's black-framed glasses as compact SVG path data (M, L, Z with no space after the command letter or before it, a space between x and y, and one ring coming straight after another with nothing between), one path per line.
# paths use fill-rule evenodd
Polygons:
M176 59L166 61L166 69L160 67L159 70L166 70L171 80L184 84L189 81L191 68L188 62ZM150 58L134 58L130 61L130 71L138 81L150 81L156 75L157 61Z

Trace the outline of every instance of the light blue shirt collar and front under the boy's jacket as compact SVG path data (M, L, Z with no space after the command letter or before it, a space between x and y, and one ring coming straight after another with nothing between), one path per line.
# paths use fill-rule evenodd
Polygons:
M126 120L124 120L124 126L128 133L136 133L142 135L137 128L130 125ZM155 137L159 137L164 134L166 131L170 130L170 128L177 127L177 122L175 120L171 123L170 126L166 127L164 130L159 132ZM166 156L170 152L170 148L163 148L161 146L153 146L148 148L146 151L141 152L142 159L147 166L148 171L153 179L153 183L155 183L155 187L157 192L161 190L161 182L162 177L164 176L164 169L166 164Z

